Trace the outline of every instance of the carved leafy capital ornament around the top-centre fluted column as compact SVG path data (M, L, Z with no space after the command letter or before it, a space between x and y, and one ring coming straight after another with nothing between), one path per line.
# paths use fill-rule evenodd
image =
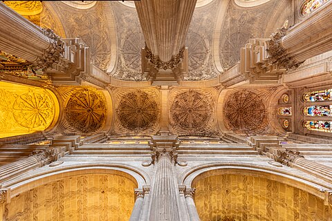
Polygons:
M172 56L172 59L170 59L167 62L161 61L158 56L155 56L152 54L151 50L147 48L145 45L145 52L146 52L146 59L147 61L151 64L151 66L154 67L156 70L160 69L175 69L178 67L178 64L180 64L181 61L183 61L184 58L184 52L185 52L185 47L181 48L181 50L178 52L178 55Z

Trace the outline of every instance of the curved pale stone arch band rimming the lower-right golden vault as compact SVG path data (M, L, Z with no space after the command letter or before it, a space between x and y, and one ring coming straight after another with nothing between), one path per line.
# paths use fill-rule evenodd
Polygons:
M274 180L302 189L308 193L316 195L325 200L326 193L322 190L331 189L331 186L323 186L321 180L314 180L303 177L282 169L271 168L270 166L252 165L248 163L223 163L223 164L202 164L194 169L188 169L183 172L179 182L187 187L193 187L197 180L212 175L236 174L262 177L268 180Z

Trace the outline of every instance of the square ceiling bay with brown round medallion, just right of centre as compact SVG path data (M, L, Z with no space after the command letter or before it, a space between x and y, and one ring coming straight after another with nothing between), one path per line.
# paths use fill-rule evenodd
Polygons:
M219 86L201 90L172 87L169 131L175 135L218 135L215 108L219 92Z

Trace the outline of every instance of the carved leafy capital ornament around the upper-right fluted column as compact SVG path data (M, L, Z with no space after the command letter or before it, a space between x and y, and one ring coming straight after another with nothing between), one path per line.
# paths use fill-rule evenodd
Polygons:
M277 64L281 68L295 69L298 68L304 61L299 62L295 57L287 55L287 49L282 46L282 38L286 35L288 30L288 21L285 22L282 28L278 28L277 32L270 35L268 41L268 59L270 63Z

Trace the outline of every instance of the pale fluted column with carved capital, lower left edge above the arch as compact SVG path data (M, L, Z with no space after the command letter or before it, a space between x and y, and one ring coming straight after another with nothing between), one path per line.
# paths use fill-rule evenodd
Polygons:
M0 184L19 174L50 164L55 160L56 155L53 150L35 150L23 160L0 166Z

